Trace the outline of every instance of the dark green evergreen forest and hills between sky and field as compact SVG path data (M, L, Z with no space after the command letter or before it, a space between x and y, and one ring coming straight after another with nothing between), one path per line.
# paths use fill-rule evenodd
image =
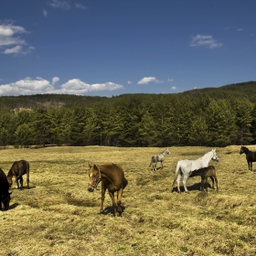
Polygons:
M0 97L0 144L172 146L256 143L256 81L172 94Z

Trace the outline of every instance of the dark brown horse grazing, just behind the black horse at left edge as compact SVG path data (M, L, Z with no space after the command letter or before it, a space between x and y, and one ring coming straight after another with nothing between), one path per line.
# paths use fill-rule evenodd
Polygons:
M13 185L13 176L16 177L16 186L19 188L18 181L20 182L20 188L23 188L23 175L27 174L27 188L29 188L29 163L26 160L16 161L10 168L7 174L7 180L9 187Z

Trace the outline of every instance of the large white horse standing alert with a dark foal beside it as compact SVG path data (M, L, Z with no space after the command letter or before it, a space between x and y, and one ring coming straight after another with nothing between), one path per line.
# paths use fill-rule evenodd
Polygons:
M210 160L214 160L219 162L219 157L216 154L216 149L212 149L207 154L203 155L202 157L198 158L197 160L180 160L176 164L176 174L173 182L173 187L177 183L177 191L180 193L179 189L179 182L180 178L183 175L183 186L185 189L185 192L187 191L187 178L189 176L189 173L193 172L194 170L197 170L199 168L208 167L208 163Z

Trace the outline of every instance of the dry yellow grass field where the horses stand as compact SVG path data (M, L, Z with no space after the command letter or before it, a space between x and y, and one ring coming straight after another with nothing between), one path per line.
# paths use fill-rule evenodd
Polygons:
M256 146L249 146L256 151ZM217 148L219 192L172 192L176 162L197 159L208 147L171 147L164 169L148 167L164 148L48 147L3 149L5 174L14 161L30 163L30 189L13 185L11 208L0 212L0 255L256 255L256 172L248 170L240 146ZM88 192L88 162L123 166L128 186L123 215L112 216L101 186ZM160 164L158 163L158 166ZM254 163L253 170L256 170ZM25 178L25 185L26 177ZM182 183L181 183L182 185Z

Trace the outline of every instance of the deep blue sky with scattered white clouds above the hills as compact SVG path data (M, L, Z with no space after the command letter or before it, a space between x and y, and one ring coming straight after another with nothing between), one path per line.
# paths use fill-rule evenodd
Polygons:
M256 80L255 0L0 0L0 96Z

